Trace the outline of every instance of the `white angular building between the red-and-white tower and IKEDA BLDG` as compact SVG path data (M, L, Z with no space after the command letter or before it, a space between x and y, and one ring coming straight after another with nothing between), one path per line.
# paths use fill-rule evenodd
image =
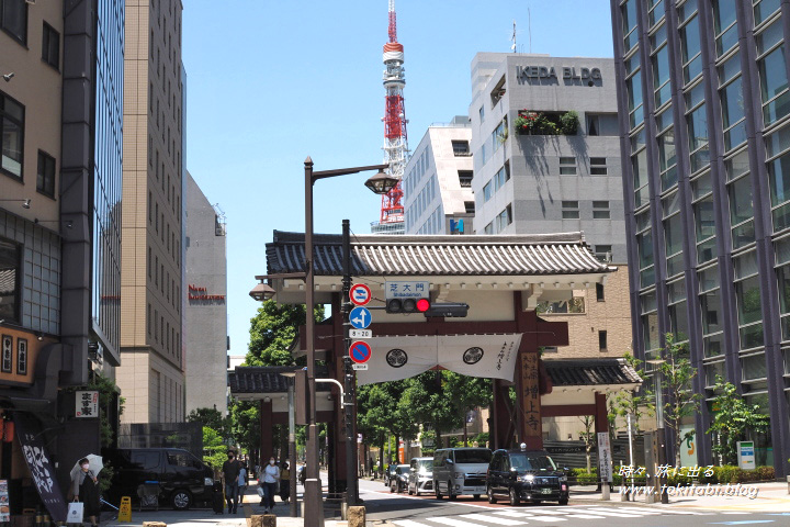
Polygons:
M459 115L432 124L404 169L406 234L473 234L472 128Z

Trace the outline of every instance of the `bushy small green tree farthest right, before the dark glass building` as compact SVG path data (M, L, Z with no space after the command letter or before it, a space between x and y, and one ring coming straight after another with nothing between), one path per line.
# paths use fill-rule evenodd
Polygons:
M713 407L713 423L706 434L714 433L719 441L713 445L713 451L724 458L725 464L737 463L737 441L748 436L765 434L770 428L770 417L760 413L759 405L747 404L737 389L731 382L724 382L716 375Z

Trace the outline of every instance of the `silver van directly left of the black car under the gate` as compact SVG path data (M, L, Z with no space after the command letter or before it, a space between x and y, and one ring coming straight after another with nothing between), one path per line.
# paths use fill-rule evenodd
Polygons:
M492 452L487 448L442 448L433 453L433 493L437 500L485 494L485 478Z

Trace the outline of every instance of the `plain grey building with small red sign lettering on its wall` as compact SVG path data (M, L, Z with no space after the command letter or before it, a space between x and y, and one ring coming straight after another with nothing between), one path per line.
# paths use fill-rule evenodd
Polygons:
M185 411L216 408L224 415L229 349L226 224L189 172L185 195Z

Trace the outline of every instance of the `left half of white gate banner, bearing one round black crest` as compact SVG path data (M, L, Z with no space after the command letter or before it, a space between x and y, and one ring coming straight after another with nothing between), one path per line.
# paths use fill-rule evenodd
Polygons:
M357 372L358 384L399 381L437 365L437 337L373 337L368 370Z

